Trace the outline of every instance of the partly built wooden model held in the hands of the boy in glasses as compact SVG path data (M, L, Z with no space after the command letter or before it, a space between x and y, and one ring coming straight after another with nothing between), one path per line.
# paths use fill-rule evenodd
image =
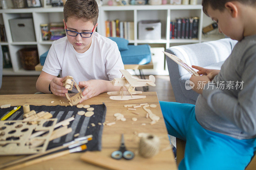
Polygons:
M82 94L82 90L80 89L80 87L76 84L75 80L73 79L72 76L67 76L67 78L65 78L63 81L63 86L68 89L68 90L72 90L73 85L75 83L76 89L78 91L78 93L76 93L75 96L70 97L68 93L65 93L66 98L69 101L70 106L76 105L77 103L79 103L82 98L84 98L83 94Z

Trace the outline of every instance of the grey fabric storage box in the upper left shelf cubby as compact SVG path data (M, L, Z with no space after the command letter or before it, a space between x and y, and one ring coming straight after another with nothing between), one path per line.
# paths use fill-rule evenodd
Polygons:
M10 19L12 41L36 41L33 18Z

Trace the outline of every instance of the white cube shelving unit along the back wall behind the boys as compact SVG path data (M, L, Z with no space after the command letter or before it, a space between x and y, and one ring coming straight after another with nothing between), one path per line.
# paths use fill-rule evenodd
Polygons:
M43 4L43 3L42 3ZM10 7L11 8L11 7ZM99 19L97 32L105 36L105 20L119 19L120 21L134 22L134 40L129 41L134 45L138 44L163 44L169 48L173 44L189 44L204 41L202 39L203 11L201 5L127 5L127 6L101 6L99 8ZM150 14L150 15L149 15ZM170 39L170 21L182 17L199 17L198 39ZM13 18L33 18L36 41L32 42L13 42L10 31L9 20ZM21 48L37 47L38 55L44 54L52 44L52 41L42 41L40 24L51 22L62 22L63 7L42 7L26 9L4 9L0 10L0 24L4 24L7 42L0 42L0 45L6 45L9 48L12 68L4 69L3 75L39 75L40 71L24 70L21 66L18 51ZM140 20L160 19L162 23L161 40L138 40L137 23ZM216 38L214 38L216 39ZM213 40L214 40L213 39ZM206 41L210 41L207 38ZM157 51L157 50L156 50ZM162 56L161 56L162 58ZM156 56L155 56L156 60ZM162 61L164 62L164 61ZM161 64L160 64L161 65ZM159 68L159 67L158 67ZM145 72L145 71L144 71ZM168 71L163 68L159 71L161 75L168 75ZM154 70L145 72L146 74L155 74Z

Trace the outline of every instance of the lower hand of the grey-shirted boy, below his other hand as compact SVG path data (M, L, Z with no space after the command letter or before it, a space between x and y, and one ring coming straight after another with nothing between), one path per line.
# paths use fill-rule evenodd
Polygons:
M190 81L192 81L195 86L193 88L193 90L199 94L203 93L203 89L204 86L209 83L210 79L207 76L195 76L192 75L191 78L189 79Z

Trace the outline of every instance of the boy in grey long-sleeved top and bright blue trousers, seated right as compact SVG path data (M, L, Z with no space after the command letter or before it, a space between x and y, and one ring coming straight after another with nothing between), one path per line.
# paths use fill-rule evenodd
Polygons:
M221 70L193 66L203 74L190 78L199 93L196 105L160 106L168 133L186 140L179 169L242 170L256 150L256 0L203 0L202 5L219 31L238 42ZM239 86L228 87L231 82Z

